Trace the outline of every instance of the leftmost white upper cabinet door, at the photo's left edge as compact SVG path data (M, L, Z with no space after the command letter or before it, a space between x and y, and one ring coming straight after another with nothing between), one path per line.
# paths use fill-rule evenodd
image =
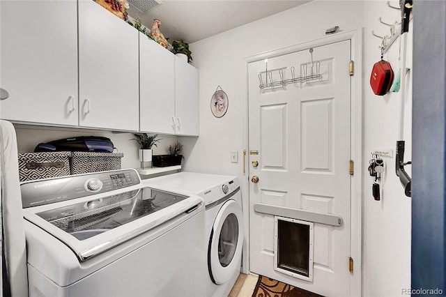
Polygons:
M77 125L77 1L0 1L1 119Z

